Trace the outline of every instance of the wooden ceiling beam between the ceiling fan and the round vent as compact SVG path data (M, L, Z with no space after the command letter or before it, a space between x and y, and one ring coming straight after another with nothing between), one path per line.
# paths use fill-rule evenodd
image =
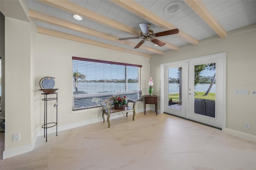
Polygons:
M145 20L151 22L152 24L155 24L156 26L164 28L165 30L172 30L176 28L168 21L162 19L161 17L157 16L156 14L144 8L133 0L111 0L111 2L117 4L118 6L121 6L122 8L125 8L126 10L136 14L137 16L140 16L141 18L144 18ZM198 40L186 34L182 30L180 30L180 32L175 35L182 38L186 42L192 43L193 45L199 44Z

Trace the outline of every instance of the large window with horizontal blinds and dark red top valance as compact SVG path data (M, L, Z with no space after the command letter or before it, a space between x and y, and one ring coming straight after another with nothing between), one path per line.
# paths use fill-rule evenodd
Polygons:
M130 100L142 99L142 66L72 57L72 109L100 107L105 99L120 93Z

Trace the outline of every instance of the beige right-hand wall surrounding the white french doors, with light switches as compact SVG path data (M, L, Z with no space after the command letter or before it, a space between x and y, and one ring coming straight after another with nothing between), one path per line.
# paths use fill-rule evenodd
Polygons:
M214 36L199 45L184 45L178 51L165 51L151 58L150 76L154 77L154 95L160 95L160 64L226 52L226 128L256 135L256 24ZM244 87L244 85L249 85ZM234 95L234 89L248 89L249 95ZM244 128L250 123L250 129Z

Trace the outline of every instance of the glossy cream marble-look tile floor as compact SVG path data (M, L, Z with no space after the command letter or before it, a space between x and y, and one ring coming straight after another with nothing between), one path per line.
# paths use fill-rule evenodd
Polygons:
M39 136L1 170L255 170L256 143L152 111Z

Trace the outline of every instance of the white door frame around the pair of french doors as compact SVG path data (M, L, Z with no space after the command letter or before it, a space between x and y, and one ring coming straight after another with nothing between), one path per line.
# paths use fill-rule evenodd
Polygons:
M223 94L223 115L222 115L222 131L226 128L226 52L223 53L216 53L212 55L205 55L201 57L194 57L191 59L183 59L179 61L173 61L173 62L168 62L168 63L162 63L160 64L160 82L161 82L161 91L160 91L160 113L163 113L164 111L164 67L166 65L171 65L171 64L178 64L178 63L185 63L185 62L191 62L191 61L198 61L201 59L213 59L213 58L218 58L222 57L223 59L223 89L224 89L224 94ZM188 107L188 106L182 106L182 107ZM186 113L186 118L188 119L188 112Z

